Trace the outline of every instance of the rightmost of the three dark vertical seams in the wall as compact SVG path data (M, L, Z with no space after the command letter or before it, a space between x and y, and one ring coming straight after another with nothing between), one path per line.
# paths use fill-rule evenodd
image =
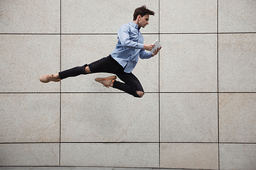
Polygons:
M218 19L219 19L219 4L217 0L217 114L218 114L218 169L220 169L220 115L219 115L219 77L218 77L218 54L219 54L219 48L218 48L218 35L219 35L219 30L218 30Z

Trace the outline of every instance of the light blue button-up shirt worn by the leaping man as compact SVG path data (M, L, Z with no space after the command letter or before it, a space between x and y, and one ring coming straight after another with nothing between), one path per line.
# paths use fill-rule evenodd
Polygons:
M124 68L124 72L130 73L136 66L139 57L149 59L150 52L145 52L144 38L138 29L138 25L132 21L124 24L117 32L118 42L111 56Z

